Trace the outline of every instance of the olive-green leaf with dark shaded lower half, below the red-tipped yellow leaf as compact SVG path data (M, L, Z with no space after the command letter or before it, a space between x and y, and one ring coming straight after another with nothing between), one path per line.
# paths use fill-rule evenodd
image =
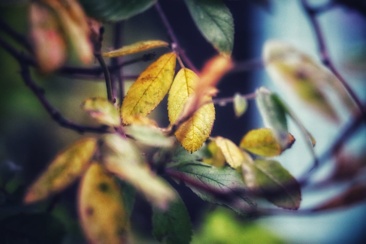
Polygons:
M256 159L252 163L244 163L242 169L248 187L260 189L266 199L278 207L292 210L299 208L300 185L279 162Z

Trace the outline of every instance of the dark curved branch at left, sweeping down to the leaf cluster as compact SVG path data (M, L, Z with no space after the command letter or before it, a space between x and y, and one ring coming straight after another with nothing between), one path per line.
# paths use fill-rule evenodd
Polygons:
M64 118L61 115L61 113L57 111L56 108L52 107L49 101L45 98L44 90L40 88L38 85L36 85L36 83L34 83L34 81L30 76L29 67L21 62L20 66L23 81L32 90L34 95L36 95L37 99L41 102L42 106L46 109L49 115L51 115L53 120L55 120L61 126L72 130L76 130L79 133L83 132L108 133L108 126L105 125L102 125L100 127L84 126Z

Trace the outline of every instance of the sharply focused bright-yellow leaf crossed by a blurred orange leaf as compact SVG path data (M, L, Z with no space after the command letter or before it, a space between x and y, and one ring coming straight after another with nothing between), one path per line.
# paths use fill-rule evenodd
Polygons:
M194 87L198 81L198 76L189 69L181 69L176 75L168 96L168 116L172 125L178 120L186 101L195 96ZM211 100L211 97L205 96L206 102ZM209 137L214 119L215 108L210 102L180 125L175 136L185 149L196 151Z

